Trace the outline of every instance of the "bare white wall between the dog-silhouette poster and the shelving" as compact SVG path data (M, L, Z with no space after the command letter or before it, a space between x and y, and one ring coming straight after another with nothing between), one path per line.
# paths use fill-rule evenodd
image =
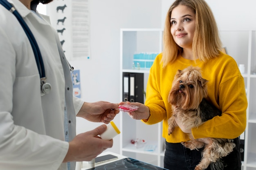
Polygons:
M159 0L90 0L91 60L71 61L80 69L82 99L120 101L120 29L160 28L161 3ZM114 119L119 126L119 116ZM77 119L77 132L97 127ZM119 153L119 136L108 151Z

